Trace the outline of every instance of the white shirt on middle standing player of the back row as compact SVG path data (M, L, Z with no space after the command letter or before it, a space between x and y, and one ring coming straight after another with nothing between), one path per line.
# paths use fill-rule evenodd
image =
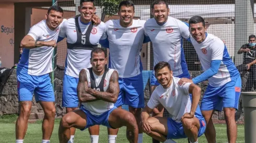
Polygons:
M140 54L145 22L133 19L132 25L127 28L120 25L120 20L106 22L111 69L117 70L119 77L133 77L141 73Z

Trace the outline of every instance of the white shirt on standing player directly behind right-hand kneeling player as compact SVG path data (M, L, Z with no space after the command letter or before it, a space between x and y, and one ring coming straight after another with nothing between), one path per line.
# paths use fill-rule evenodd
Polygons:
M157 24L156 20L151 18L146 21L144 30L153 44L154 66L160 61L165 61L170 64L173 76L189 75L182 41L182 37L190 37L188 25L170 16L163 25Z

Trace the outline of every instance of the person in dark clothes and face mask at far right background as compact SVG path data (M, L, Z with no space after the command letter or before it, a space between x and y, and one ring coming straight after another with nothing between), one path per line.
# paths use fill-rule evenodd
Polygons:
M242 45L237 51L237 54L243 53L243 63L237 66L239 72L249 71L249 77L246 83L245 92L250 92L253 85L256 87L256 65L255 65L255 50L256 50L256 36L249 36L249 43Z

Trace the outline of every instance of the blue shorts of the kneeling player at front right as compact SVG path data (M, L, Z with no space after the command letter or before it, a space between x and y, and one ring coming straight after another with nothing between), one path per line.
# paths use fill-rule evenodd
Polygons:
M197 137L200 137L205 132L206 122L201 113L195 113L195 116L200 123L200 129L197 135ZM176 122L171 118L168 118L167 126L168 126L167 138L170 138L170 139L188 138L184 133L183 125L181 122Z

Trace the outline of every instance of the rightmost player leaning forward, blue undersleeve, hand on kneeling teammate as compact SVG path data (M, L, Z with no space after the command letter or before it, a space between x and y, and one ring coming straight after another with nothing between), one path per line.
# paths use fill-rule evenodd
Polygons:
M216 132L212 121L215 110L222 111L227 124L228 142L235 143L237 125L235 111L238 109L241 92L241 77L229 57L227 47L220 38L206 33L204 19L194 16L189 20L191 42L201 61L204 72L190 79L181 79L179 84L209 81L201 101L201 111L206 121L205 136L209 143L216 142Z

